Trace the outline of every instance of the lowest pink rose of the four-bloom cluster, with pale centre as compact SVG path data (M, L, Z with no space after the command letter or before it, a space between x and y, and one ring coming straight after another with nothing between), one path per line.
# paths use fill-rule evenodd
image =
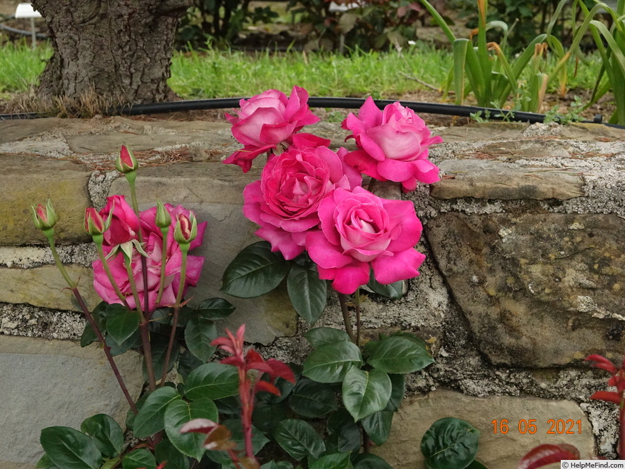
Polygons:
M414 249L422 228L412 202L338 188L319 204L319 219L322 229L306 234L306 249L336 291L366 285L370 269L383 284L419 275L426 256Z

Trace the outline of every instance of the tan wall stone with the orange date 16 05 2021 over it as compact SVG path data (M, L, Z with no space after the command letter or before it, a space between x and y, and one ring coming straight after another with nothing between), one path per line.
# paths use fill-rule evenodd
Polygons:
M443 411L444 409L444 411ZM530 449L544 443L566 443L580 450L582 459L594 454L592 428L584 412L573 401L551 401L537 397L491 396L479 398L459 392L439 389L425 397L405 399L395 417L389 440L373 452L386 459L394 469L426 467L421 454L421 438L438 419L456 417L472 424L480 431L479 451L476 459L487 468L516 469L518 461ZM493 429L493 420L508 420L508 433ZM521 433L522 420L535 419L536 433ZM573 425L573 434L548 434L553 419ZM523 430L521 423L521 431ZM562 429L562 426L560 427ZM568 426L566 427L568 429Z

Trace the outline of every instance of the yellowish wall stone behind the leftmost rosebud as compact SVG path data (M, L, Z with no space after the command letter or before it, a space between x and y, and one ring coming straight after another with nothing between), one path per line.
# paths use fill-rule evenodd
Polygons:
M47 244L33 225L31 206L52 199L59 214L54 227L59 243L86 241L84 208L89 207L91 171L71 161L24 154L0 154L0 246Z

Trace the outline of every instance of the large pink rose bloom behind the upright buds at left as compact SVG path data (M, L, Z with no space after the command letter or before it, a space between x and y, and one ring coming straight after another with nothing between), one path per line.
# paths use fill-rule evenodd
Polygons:
M121 199L123 200L123 198ZM170 213L170 216L172 216L172 222L178 214L184 214L186 216L189 214L189 211L180 205L178 207L173 207L171 204L165 204L165 208ZM161 234L160 229L156 226L155 220L156 207L142 211L140 214L141 230L144 240L143 249L148 255L146 258L147 291L144 290L143 268L141 262L142 255L140 255L136 249L133 251L133 258L130 262L141 306L144 308L145 295L147 295L149 311L154 311L156 308L160 308L162 306L172 306L175 303L180 284L182 265L182 253L178 244L174 241L174 225L172 224L172 226L170 226L170 230L167 235L166 257L165 260L163 260L163 235ZM114 217L109 230L116 228L114 226L115 223L117 222ZM107 230L107 232L109 230ZM204 230L206 230L206 222L198 223L197 237L191 242L190 248L194 248L202 244ZM138 240L138 234L134 239ZM108 244L105 239L105 243L103 244L105 254L110 253L112 248L114 248L114 245ZM115 282L126 298L128 306L130 306L130 308L136 308L135 298L133 297L132 289L130 288L128 272L126 271L123 259L123 254L117 253L113 258L108 260L108 264ZM165 289L163 290L163 296L161 297L160 302L156 304L158 288L160 285L160 266L163 262L165 262ZM203 263L204 258L201 256L187 256L183 295L189 286L195 286L197 284L199 274L202 271ZM95 288L98 295L100 295L100 297L109 304L121 304L122 301L119 297L117 297L100 260L93 262L93 274L93 288Z

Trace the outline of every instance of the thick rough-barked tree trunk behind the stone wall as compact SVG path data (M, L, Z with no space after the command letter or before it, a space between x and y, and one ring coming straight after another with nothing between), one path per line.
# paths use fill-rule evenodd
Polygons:
M175 96L167 79L179 17L192 0L33 0L54 54L38 96L151 103Z

